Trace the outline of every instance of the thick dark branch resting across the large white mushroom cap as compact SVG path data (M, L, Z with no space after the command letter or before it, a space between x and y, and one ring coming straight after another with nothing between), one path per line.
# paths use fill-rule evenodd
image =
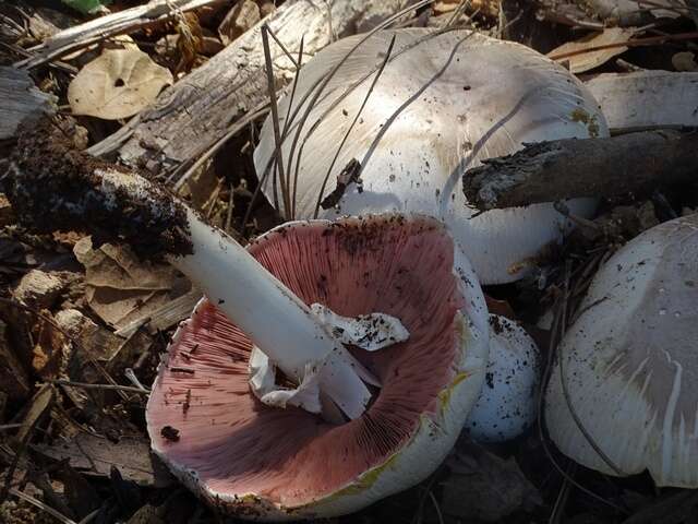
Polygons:
M464 192L481 211L580 196L641 195L698 181L696 151L697 133L671 130L541 142L469 169Z

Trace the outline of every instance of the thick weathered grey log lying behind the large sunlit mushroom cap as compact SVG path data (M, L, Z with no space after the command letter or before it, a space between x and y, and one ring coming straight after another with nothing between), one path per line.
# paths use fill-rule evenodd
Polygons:
M155 107L141 116L133 136L121 146L127 165L153 172L174 168L200 156L249 110L267 102L267 80L261 26L266 23L297 57L301 38L303 62L335 37L368 31L411 0L289 0L221 52L161 93ZM332 27L330 27L332 26ZM270 45L274 80L281 87L294 74L291 60ZM301 72L302 74L302 72Z

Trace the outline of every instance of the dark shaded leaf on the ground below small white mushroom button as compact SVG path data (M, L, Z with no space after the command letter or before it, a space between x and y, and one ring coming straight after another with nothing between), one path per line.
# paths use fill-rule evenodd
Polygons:
M462 522L500 522L543 503L513 457L501 458L474 442L460 442L446 463L442 509Z

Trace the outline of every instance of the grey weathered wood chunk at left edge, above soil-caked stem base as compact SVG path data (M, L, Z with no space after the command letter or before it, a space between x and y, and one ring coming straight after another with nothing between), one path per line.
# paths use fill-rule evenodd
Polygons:
M0 140L14 136L22 120L56 111L55 96L39 91L26 71L0 68Z

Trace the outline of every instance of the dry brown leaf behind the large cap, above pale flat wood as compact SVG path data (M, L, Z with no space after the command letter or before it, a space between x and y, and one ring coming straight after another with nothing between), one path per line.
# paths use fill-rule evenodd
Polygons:
M604 64L613 57L627 51L626 46L609 47L595 51L585 51L599 46L623 44L637 32L634 27L606 27L601 33L592 33L576 41L568 41L547 53L553 60L569 63L573 73L582 73ZM575 53L567 56L569 53ZM559 58L557 58L559 57Z

